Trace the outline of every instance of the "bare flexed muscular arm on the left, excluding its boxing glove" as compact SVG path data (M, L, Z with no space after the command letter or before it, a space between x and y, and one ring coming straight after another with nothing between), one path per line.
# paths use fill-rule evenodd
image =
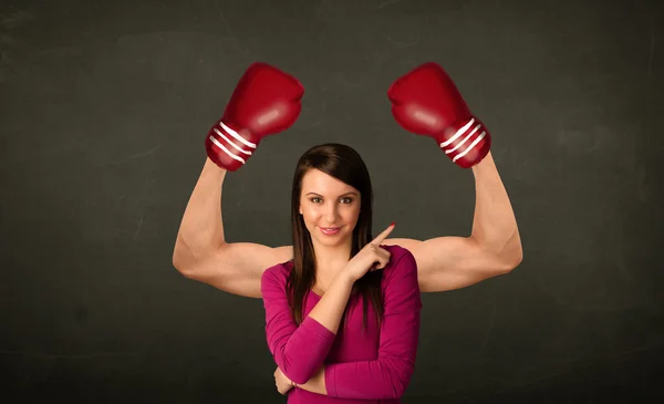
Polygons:
M229 293L261 298L262 272L292 257L292 247L226 242L221 188L226 170L206 158L183 216L173 265L185 277Z

